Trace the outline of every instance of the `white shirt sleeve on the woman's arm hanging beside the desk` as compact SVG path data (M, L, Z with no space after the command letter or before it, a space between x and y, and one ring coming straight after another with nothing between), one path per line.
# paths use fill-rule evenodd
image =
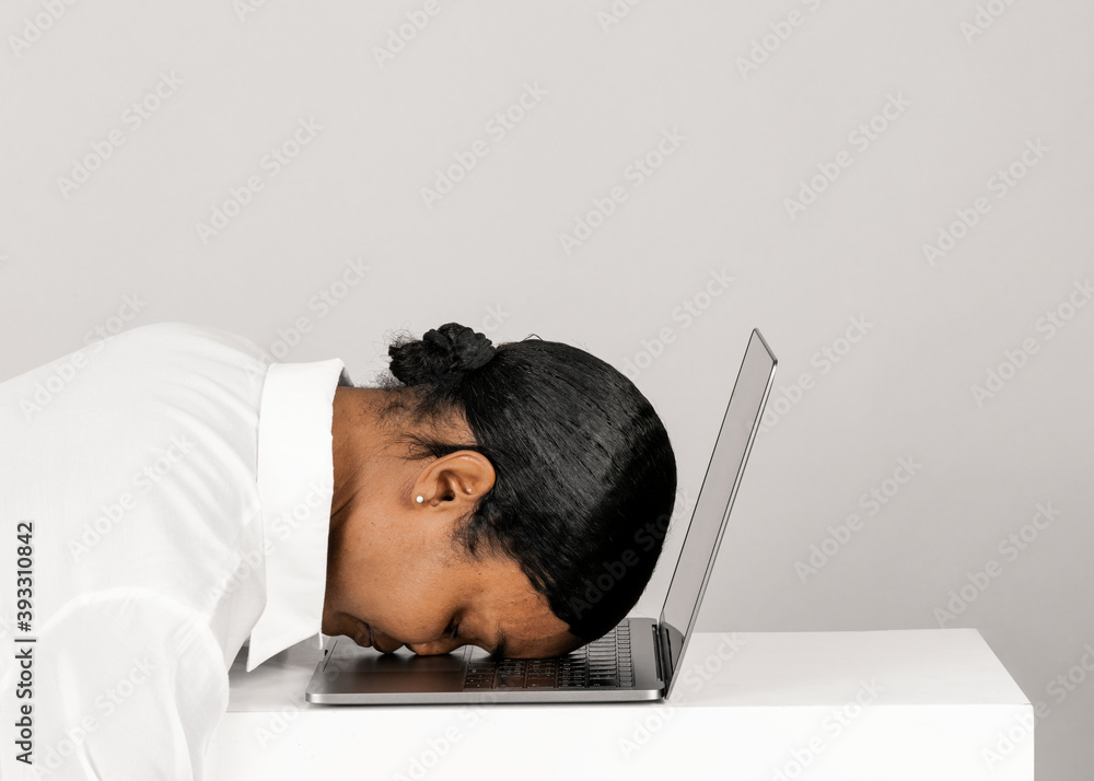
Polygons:
M35 769L5 757L4 778L205 778L229 691L207 617L150 590L112 588L67 604L34 653Z

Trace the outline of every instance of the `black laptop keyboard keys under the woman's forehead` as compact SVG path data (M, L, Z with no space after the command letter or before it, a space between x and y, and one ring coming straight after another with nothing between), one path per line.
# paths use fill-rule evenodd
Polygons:
M633 688L630 626L621 623L566 656L472 660L464 679L469 689Z

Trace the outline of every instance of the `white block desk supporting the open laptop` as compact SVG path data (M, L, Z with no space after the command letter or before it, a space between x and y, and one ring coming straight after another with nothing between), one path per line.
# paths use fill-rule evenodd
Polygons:
M318 656L237 661L212 779L1033 779L1033 708L974 629L697 634L635 704L313 706Z

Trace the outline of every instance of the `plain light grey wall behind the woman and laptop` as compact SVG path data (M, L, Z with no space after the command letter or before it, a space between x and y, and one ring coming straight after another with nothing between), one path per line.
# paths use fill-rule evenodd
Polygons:
M377 58L408 14L428 23ZM772 416L699 629L976 627L1047 707L1038 778L1083 778L1092 22L1081 0L12 0L0 377L95 328L163 320L279 360L339 357L359 383L396 328L535 333L639 368L687 510L758 326L781 362ZM321 129L294 147L301 120ZM476 142L487 153L427 203ZM264 155L282 147L275 170ZM816 176L823 191L788 209ZM261 189L202 238L249 177ZM614 188L626 200L565 247ZM368 270L347 279L354 259ZM732 282L708 298L712 273ZM978 398L1004 362L1022 365ZM909 457L915 475L886 483ZM852 513L858 529L829 531ZM833 551L813 572L811 546ZM639 613L656 613L666 570ZM967 607L939 614L963 586ZM1051 688L1069 671L1081 683Z

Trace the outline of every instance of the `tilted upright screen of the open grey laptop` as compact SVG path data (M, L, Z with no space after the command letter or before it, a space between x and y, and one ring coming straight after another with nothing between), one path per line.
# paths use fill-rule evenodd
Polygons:
M662 652L666 653L671 676L666 698L678 677L673 673L695 628L699 601L759 428L777 362L760 333L753 330L661 611Z

